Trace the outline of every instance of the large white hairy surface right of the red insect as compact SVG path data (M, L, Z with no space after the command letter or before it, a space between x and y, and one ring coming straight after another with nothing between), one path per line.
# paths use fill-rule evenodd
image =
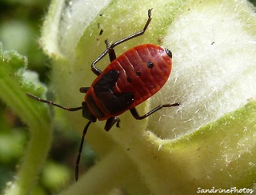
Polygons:
M164 46L173 52L173 72L155 98L182 105L150 121L158 137L191 133L256 97L256 38L246 31L250 23L242 23L229 7L208 8L191 7L169 27Z

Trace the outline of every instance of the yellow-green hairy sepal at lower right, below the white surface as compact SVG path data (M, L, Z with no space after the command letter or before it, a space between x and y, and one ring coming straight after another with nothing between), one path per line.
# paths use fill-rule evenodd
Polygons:
M140 155L151 189L181 194L201 189L250 189L256 177L256 102L174 141L149 133L154 155ZM153 165L156 169L151 169ZM158 175L158 177L155 177ZM166 180L166 175L170 176ZM189 177L188 177L189 176ZM162 181L162 182L160 182ZM154 185L158 184L158 185ZM159 186L160 185L160 186Z

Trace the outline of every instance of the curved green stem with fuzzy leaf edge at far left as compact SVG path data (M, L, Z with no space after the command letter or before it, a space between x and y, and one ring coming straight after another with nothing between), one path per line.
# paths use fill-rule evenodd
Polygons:
M52 140L52 128L46 105L38 104L26 93L42 96L46 88L34 84L34 74L26 72L26 58L15 51L2 51L0 45L0 98L30 128L30 141L8 194L27 194L38 179Z

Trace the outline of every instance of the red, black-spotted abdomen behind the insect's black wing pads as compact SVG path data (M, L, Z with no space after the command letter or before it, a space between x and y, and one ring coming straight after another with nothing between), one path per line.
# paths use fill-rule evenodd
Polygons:
M165 49L146 44L127 50L107 68L119 71L115 92L134 94L134 102L130 109L162 88L169 78L171 65L172 60Z

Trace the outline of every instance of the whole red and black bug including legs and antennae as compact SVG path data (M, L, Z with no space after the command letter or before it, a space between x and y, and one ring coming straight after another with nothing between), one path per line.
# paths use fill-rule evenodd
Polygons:
M92 63L91 70L98 77L90 87L81 87L80 92L86 93L82 106L67 108L53 101L38 98L32 94L28 97L42 101L68 111L82 109L82 117L88 119L83 129L82 141L78 150L75 179L78 180L78 165L82 153L82 145L86 131L91 122L106 120L105 130L109 131L114 124L119 127L118 115L130 109L137 120L142 120L163 107L177 106L179 103L158 105L149 113L139 115L136 105L158 92L169 78L172 67L172 53L168 49L153 44L135 46L116 58L114 47L122 42L136 38L145 33L151 21L151 10L148 10L148 20L143 30L109 44L106 40L106 50ZM95 67L103 57L109 54L110 65L101 71Z

